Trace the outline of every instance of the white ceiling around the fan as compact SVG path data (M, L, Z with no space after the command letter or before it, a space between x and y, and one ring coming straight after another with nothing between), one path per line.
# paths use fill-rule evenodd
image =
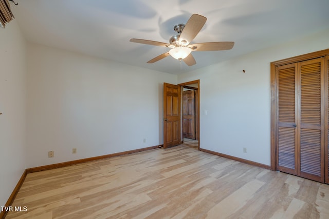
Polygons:
M178 74L329 28L328 0L15 0L12 11L27 41ZM207 17L193 43L233 41L232 50L192 52L196 65L168 56L173 26L193 14ZM10 24L8 24L10 25ZM326 48L323 48L326 49Z

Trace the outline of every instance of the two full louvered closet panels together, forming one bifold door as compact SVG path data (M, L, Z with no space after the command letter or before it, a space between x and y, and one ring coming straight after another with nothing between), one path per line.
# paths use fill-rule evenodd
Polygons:
M277 81L277 169L323 182L323 58L279 66Z

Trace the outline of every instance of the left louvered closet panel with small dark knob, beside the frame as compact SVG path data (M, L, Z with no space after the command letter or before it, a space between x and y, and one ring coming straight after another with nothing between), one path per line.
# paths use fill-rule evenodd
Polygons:
M297 133L297 64L277 67L277 169L298 174Z

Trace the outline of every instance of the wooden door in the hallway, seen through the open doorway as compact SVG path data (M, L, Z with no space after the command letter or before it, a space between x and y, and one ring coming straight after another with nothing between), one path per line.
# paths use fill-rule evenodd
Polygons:
M195 91L183 92L183 137L195 140Z

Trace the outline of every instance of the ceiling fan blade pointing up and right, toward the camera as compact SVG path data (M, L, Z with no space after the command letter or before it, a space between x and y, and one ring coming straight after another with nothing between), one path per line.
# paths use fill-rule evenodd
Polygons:
M194 37L199 33L202 27L205 25L207 18L199 15L192 14L190 19L187 21L184 29L181 31L179 36L180 39L185 39L188 44L191 43Z

